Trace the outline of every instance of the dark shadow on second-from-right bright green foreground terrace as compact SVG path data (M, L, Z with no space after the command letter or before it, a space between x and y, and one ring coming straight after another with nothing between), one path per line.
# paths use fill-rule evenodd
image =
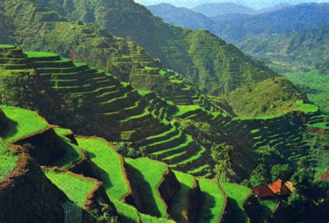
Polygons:
M201 211L199 213L199 219L198 222L211 222L211 220L214 220L214 215L212 214L211 209L216 206L216 201L214 199L214 196L203 192L203 206L201 207ZM216 210L221 211L221 210Z

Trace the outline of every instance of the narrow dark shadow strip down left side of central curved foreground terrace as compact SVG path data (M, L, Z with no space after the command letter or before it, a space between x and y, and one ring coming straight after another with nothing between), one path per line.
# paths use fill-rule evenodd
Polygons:
M152 194L151 185L149 182L145 181L144 176L142 175L142 172L139 170L133 168L133 166L127 165L130 172L135 177L138 186L140 187L140 191L142 193L141 198L143 202L143 206L145 208L146 214L155 216L155 217L161 217L161 213L158 209L158 206L155 202L155 199Z

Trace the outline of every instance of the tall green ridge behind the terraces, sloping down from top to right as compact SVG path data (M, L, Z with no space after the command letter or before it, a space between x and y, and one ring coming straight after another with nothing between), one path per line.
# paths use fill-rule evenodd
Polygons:
M17 43L31 48L37 46L39 47L38 50L44 50L42 46L45 46L45 44L40 44L40 39L34 38L35 36L44 35L43 32L40 34L35 33L40 28L44 28L44 26L39 26L40 24L37 25L36 21L43 23L46 21L64 21L65 19L76 21L79 19L80 21L105 26L113 35L126 37L133 40L136 44L140 44L150 55L159 58L163 66L173 69L181 73L185 78L192 80L196 84L196 87L199 87L203 93L218 94L233 90L233 87L222 87L224 85L230 85L225 78L221 79L221 81L219 80L222 73L225 73L230 79L235 79L233 75L237 75L236 79L241 80L241 82L236 82L236 86L239 86L242 82L255 82L259 80L247 78L247 70L251 70L261 80L276 75L276 73L267 69L262 64L253 61L250 57L241 53L237 48L222 42L217 37L210 35L210 33L193 33L191 30L165 24L158 17L154 17L149 10L133 1L102 0L97 1L97 3L92 1L90 4L85 1L79 1L79 3L76 1L69 2L62 4L59 1L54 5L45 1L39 3L34 1L17 3L6 0L5 5L8 17L17 23ZM31 12L34 11L40 14L40 16L30 18L30 20L20 21L24 17L24 12L19 10L20 4L26 4L26 7L31 8ZM37 8L39 9L36 10ZM32 23L29 21L32 21ZM27 29L31 25L34 28ZM51 27L53 26L51 25ZM52 28L49 29L51 30ZM145 33L148 33L148 35L145 35ZM26 37L26 34L30 37ZM187 41L191 35L194 36L193 42ZM207 38L213 39L217 46L223 48L223 51L219 52L225 55L223 60L215 60L217 51L209 47L207 42L201 42L204 35ZM39 43L27 43L31 40L38 41ZM189 48L193 47L193 44L199 45L204 55L212 55L211 60L205 61L203 57L201 60L196 60L196 57L199 57L199 55L194 55L193 51L189 50ZM234 61L235 66L239 66L239 69L232 71L230 69L230 61ZM104 67L100 68L104 69ZM208 81L207 79L209 78L213 81ZM206 82L206 85L203 86L199 82Z

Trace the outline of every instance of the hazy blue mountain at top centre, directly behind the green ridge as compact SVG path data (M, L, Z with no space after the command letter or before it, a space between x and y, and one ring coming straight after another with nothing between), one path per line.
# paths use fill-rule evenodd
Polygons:
M208 28L213 21L205 15L187 8L177 8L168 3L161 3L147 7L154 15L164 19L165 22L192 29Z

